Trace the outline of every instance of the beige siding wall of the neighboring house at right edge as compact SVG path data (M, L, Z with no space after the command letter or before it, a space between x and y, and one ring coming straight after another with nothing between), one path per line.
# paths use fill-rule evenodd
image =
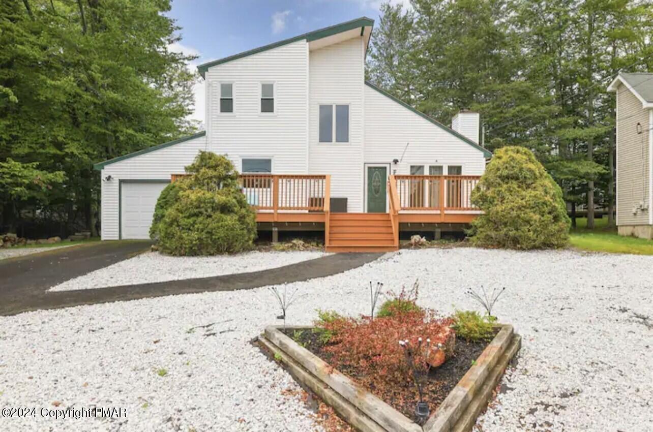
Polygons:
M625 85L617 90L616 218L618 225L650 224L649 110ZM637 123L641 134L637 133ZM640 202L647 211L633 208Z

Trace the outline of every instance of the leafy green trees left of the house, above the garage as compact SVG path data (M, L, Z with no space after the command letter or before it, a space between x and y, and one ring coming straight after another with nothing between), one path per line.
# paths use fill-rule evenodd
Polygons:
M93 162L195 129L194 57L168 49L180 39L169 10L169 0L0 2L0 161L56 176L38 200L0 202L0 224L38 209L71 224L82 215L93 232Z

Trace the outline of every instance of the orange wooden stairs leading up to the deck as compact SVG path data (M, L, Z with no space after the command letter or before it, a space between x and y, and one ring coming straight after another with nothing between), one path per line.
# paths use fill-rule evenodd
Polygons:
M390 213L329 213L327 252L389 252L398 249Z

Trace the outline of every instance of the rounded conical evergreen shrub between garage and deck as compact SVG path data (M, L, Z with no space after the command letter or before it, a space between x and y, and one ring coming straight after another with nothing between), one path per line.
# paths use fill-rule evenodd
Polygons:
M180 181L176 200L157 224L159 250L170 255L215 255L250 249L256 216L229 159L201 152L187 171L191 176Z

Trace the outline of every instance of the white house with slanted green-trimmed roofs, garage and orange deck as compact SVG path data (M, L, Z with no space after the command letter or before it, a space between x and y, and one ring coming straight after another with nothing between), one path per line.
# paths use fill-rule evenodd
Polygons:
M102 238L148 238L157 196L199 150L228 155L244 174L260 229L325 230L332 250L392 249L406 224L439 232L468 223L491 156L478 144L479 115L460 112L449 129L365 82L373 23L358 18L200 65L206 132L95 164ZM371 234L355 228L370 224Z

